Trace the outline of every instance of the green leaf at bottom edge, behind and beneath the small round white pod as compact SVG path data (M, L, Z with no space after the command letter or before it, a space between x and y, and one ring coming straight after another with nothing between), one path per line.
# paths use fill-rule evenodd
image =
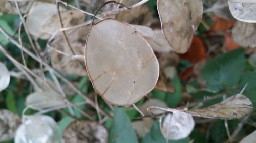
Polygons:
M168 143L188 143L189 137L180 139L180 140L168 140ZM166 143L166 139L163 137L160 127L159 121L156 121L144 138L142 138L142 143Z

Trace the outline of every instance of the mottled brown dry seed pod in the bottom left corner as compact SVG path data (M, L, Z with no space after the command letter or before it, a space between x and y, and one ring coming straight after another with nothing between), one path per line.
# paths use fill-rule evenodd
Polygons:
M0 110L0 142L14 137L15 132L20 125L20 118L15 113L1 109Z

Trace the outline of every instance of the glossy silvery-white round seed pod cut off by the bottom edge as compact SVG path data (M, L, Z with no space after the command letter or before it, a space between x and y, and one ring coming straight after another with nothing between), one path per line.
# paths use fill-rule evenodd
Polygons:
M50 116L24 116L22 120L22 125L19 126L15 135L15 143L60 142L59 127Z

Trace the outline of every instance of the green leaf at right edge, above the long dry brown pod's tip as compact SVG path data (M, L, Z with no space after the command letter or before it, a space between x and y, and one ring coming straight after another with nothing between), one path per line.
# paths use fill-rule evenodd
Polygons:
M242 75L242 78L239 82L240 90L243 89L246 83L248 83L248 85L243 92L243 95L251 100L253 104L253 110L256 110L256 70L247 71Z

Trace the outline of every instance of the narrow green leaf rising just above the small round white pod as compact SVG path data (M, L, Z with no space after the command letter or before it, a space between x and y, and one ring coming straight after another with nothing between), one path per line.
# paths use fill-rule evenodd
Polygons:
M169 107L176 107L180 103L182 97L181 83L177 72L175 73L172 83L175 88L175 93L168 93L166 96L166 101Z

